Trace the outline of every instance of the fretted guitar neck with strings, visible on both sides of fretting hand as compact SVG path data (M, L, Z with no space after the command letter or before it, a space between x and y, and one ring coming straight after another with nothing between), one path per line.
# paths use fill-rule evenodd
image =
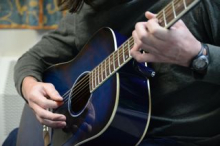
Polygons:
M157 14L156 18L162 27L168 29L199 2L200 0L172 0ZM91 71L89 77L90 92L97 89L105 80L132 59L129 52L133 45L134 39L130 37L116 51Z

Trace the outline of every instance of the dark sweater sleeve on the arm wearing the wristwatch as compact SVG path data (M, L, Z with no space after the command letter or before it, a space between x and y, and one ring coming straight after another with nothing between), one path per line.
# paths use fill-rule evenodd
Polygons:
M220 84L220 2L202 0L189 15L183 18L194 36L209 46L210 64L202 78L204 82ZM190 22L190 23L189 23Z

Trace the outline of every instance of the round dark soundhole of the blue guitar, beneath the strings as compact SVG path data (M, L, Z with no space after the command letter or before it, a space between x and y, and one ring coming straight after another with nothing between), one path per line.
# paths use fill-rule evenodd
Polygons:
M91 96L89 90L89 74L82 74L75 82L69 98L69 112L72 116L78 116L84 111Z

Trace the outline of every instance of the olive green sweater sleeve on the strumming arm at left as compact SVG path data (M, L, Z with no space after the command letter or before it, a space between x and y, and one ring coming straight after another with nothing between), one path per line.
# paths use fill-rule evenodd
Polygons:
M74 15L68 14L61 20L57 30L46 34L18 59L14 68L14 82L18 93L23 96L21 86L26 76L42 81L42 73L46 68L56 63L69 61L77 53Z

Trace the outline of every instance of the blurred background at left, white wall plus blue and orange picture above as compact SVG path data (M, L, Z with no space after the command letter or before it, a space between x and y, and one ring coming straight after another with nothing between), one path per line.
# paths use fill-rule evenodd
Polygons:
M64 16L56 0L0 0L0 145L19 126L24 106L13 82L16 60Z

